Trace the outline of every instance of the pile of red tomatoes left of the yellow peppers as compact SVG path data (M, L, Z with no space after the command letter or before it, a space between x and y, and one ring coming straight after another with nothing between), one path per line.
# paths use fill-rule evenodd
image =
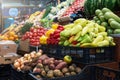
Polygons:
M27 31L23 36L22 40L29 39L30 45L38 46L40 44L40 37L45 34L47 29L43 27L31 27L30 31Z

